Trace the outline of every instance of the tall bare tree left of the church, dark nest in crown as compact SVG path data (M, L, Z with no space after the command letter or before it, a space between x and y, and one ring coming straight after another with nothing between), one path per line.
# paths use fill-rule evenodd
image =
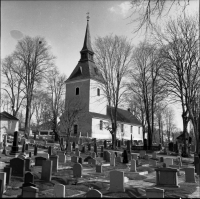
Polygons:
M50 47L42 37L24 37L17 43L14 57L18 64L23 67L22 71L15 72L23 79L26 92L26 117L25 117L25 136L30 132L30 114L33 90L36 82L40 83L45 73L53 65L54 57L50 54Z

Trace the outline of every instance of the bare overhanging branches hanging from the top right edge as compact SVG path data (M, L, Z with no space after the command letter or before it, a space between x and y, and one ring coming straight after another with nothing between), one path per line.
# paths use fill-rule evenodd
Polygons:
M144 27L146 31L149 28L151 29L155 23L153 17L156 17L156 20L158 20L163 15L167 15L174 5L181 7L184 12L190 1L191 0L131 0L132 12L129 16L131 18L130 23L139 23L134 32L139 31L142 27ZM138 17L132 19L134 13L138 13Z

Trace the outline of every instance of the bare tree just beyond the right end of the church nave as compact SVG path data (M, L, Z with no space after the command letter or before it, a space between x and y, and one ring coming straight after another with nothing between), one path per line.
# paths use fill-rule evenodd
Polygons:
M134 51L129 90L142 99L148 129L148 146L152 145L156 104L166 96L165 83L160 77L162 64L155 45L140 43Z

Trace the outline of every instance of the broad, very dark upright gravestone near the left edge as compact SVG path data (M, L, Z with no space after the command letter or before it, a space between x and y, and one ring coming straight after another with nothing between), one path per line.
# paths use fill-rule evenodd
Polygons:
M12 176L24 177L25 160L21 158L13 158L10 160L10 167L12 168Z

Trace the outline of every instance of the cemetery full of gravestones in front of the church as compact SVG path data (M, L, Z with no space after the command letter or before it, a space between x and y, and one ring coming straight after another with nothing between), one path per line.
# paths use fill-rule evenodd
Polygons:
M18 132L12 143L6 139L0 156L2 197L198 198L198 156L129 153L129 142L121 140L114 151L106 140L72 137L61 151L57 142L21 142Z

